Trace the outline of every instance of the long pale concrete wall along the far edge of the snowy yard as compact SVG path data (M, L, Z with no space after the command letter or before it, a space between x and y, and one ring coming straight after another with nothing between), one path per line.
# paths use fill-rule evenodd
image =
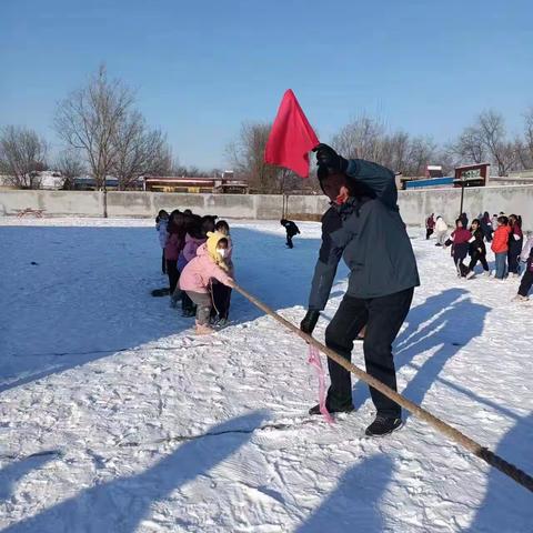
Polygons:
M421 225L429 213L441 214L453 223L459 214L460 189L400 191L402 217L409 225ZM109 217L152 218L160 209L190 208L199 214L232 219L281 218L283 198L272 194L174 194L160 192L108 192ZM82 191L0 191L0 215L17 210L43 209L49 217L101 217L102 192ZM289 197L286 212L296 219L310 219L328 209L324 197ZM472 219L480 212L520 213L524 229L533 230L533 185L471 188L464 191L464 211Z

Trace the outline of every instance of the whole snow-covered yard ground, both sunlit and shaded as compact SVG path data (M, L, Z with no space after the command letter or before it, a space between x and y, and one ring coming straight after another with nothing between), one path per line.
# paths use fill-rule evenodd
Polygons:
M533 531L531 493L413 416L362 436L362 383L354 414L310 420L304 344L241 296L233 325L192 335L150 295L165 284L151 221L0 224L1 531ZM278 223L232 227L238 281L293 322L320 239L300 227L294 250ZM533 473L533 308L511 303L516 282L457 280L443 250L412 242L400 391Z

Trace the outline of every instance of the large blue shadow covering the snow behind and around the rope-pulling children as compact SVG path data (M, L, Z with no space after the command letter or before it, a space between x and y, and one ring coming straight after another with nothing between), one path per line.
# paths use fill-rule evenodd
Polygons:
M151 228L0 228L0 393L193 325L150 295L168 286ZM239 283L274 309L306 304L319 240L288 250L281 227L232 237ZM260 315L233 295L231 320Z

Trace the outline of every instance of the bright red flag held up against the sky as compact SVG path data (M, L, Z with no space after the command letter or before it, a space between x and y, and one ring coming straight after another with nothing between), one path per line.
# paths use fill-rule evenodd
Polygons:
M319 139L291 89L285 91L264 149L264 162L309 177L309 152Z

